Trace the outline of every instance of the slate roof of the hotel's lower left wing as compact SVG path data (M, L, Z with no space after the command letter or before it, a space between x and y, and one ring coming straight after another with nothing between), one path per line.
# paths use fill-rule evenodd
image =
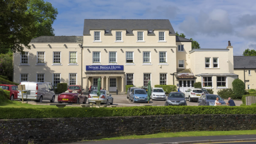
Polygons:
M83 36L41 36L30 43L83 43Z

